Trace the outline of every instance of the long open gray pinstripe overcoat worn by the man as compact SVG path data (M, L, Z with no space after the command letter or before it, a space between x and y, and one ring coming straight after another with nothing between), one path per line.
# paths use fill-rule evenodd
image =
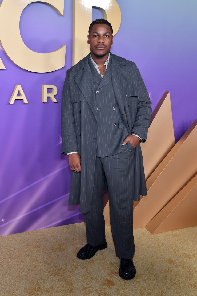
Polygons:
M135 63L111 54L111 77L115 97L129 134L145 142L151 119L151 102ZM89 54L90 55L90 54ZM69 205L91 211L97 145L95 90L89 55L67 70L62 93L62 153L78 151L81 173L71 172ZM134 200L146 195L140 144L135 148Z

